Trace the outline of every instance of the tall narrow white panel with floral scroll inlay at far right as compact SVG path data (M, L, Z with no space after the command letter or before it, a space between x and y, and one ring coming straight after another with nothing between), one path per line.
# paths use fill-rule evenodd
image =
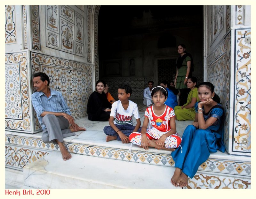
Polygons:
M251 152L251 29L235 29L232 151Z

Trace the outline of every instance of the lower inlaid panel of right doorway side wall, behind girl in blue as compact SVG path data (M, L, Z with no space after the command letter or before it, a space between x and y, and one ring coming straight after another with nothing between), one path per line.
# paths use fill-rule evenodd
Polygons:
M224 143L228 149L229 138L229 86L230 86L230 33L220 42L206 59L207 78L215 86L215 92L225 109Z

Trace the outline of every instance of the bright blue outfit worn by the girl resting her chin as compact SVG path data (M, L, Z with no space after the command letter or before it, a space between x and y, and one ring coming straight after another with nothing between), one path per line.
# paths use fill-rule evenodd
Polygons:
M198 102L195 104L197 113ZM208 113L204 112L204 121L210 117L217 120L207 129L196 129L193 125L188 125L184 130L181 147L171 153L178 167L188 177L193 178L198 167L210 156L210 153L225 152L225 145L222 140L222 121L224 120L223 108L220 104L211 108ZM181 152L182 151L182 152Z

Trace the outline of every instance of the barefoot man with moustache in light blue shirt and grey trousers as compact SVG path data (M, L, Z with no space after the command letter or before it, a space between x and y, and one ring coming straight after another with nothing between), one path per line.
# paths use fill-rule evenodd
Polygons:
M79 127L71 116L66 101L58 91L51 90L48 86L49 77L42 72L33 75L34 90L37 92L31 95L32 104L43 134L44 143L53 142L60 146L63 160L71 158L63 144L63 138L76 135L74 132L86 130Z

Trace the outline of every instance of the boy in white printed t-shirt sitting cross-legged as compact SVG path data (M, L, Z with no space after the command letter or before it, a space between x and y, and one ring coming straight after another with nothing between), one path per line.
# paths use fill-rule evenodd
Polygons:
M132 94L132 88L129 85L119 85L117 96L118 101L112 104L109 125L105 126L103 131L107 135L106 142L111 140L121 140L122 143L129 143L129 135L132 132L140 132L140 114L137 104L128 98ZM132 115L134 115L137 124L132 125Z

